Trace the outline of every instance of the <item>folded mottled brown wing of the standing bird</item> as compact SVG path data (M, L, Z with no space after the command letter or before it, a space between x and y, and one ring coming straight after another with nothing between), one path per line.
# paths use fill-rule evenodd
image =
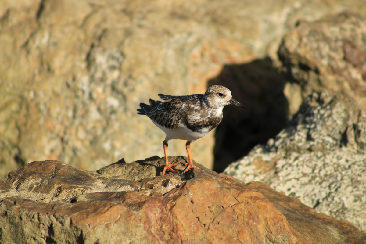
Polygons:
M155 105L147 115L150 119L168 129L174 129L178 126L183 106L181 101L174 98L168 102L152 100L150 104Z

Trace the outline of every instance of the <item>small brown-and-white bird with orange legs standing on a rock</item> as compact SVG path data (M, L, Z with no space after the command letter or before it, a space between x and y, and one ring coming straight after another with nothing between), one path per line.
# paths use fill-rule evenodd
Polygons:
M158 94L164 102L149 99L150 105L140 103L141 109L137 109L139 115L147 115L153 123L162 129L165 134L163 141L165 171L169 169L173 173L178 173L172 169L179 164L171 164L168 161L168 140L187 140L186 149L188 154L187 172L191 168L200 169L193 164L191 158L190 144L210 132L220 124L223 119L223 108L233 104L246 108L240 102L231 97L231 91L224 86L210 86L205 94L192 94L185 96L170 96Z

